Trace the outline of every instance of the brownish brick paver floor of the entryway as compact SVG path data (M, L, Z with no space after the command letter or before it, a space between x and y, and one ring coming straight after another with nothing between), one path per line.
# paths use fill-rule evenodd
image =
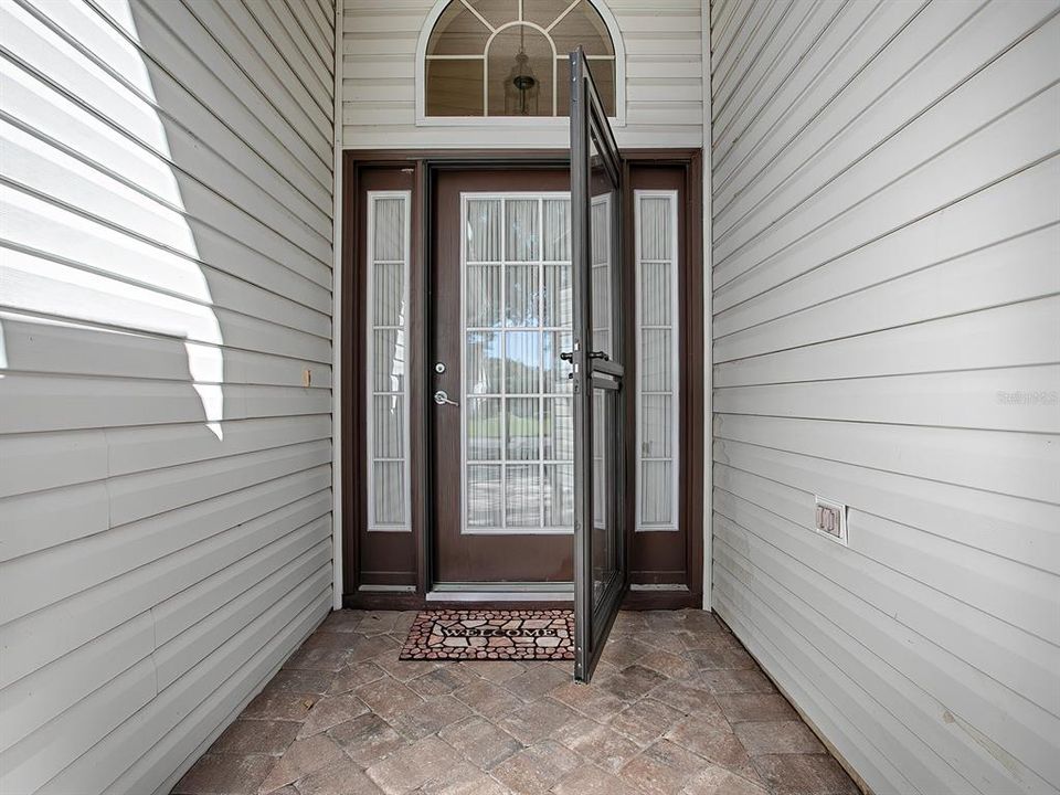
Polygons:
M415 615L332 613L174 795L858 793L710 613L621 613L587 686L401 661Z

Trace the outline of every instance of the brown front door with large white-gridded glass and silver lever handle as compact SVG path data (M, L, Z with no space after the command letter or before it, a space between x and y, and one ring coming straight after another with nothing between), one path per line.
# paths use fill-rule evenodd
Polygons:
M436 173L435 583L573 577L569 190L566 169Z

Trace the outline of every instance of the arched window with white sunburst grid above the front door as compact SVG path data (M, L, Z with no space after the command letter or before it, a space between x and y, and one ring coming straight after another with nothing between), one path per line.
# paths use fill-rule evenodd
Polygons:
M453 0L427 40L427 116L566 116L582 45L615 115L615 46L589 0Z

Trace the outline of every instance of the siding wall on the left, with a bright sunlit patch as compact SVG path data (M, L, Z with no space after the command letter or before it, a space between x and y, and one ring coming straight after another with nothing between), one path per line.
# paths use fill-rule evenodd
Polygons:
M0 791L168 792L330 607L333 24L0 8Z

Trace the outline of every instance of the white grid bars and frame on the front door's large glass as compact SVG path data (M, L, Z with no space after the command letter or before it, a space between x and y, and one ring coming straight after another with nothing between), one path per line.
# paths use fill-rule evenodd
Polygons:
M537 265L538 267L538 284L543 286L544 284L544 268L547 266L571 266L571 259L547 259L544 257L544 202L545 201L564 201L568 204L570 203L571 194L566 191L508 191L508 192L462 192L460 193L460 268L459 268L459 279L460 279L460 532L469 536L489 536L489 534L518 534L518 536L545 536L545 534L570 534L573 533L574 528L571 526L549 526L545 524L544 516L544 499L539 500L538 505L538 524L537 526L515 526L509 527L507 523L507 477L508 477L508 467L509 465L522 466L522 465L536 465L538 467L539 475L539 495L543 497L544 487L543 487L543 474L547 466L570 466L572 474L572 488L573 488L573 456L571 458L545 458L543 449L541 446L543 444L543 438L539 432L538 435L538 456L534 459L510 459L508 457L508 412L507 412L507 402L510 399L519 398L530 398L538 400L538 421L539 424L543 424L544 421L544 405L545 401L554 398L571 398L569 393L565 392L545 392L544 391L544 377L545 377L545 335L550 333L562 333L571 332L571 324L569 318L561 318L561 320L566 320L565 325L555 325L555 326L544 326L544 318L541 318L541 322L534 327L508 327L504 324L504 317L501 317L501 325L499 327L477 327L468 326L467 324L467 288L468 288L468 278L467 269L469 266L492 266L497 267L500 271L500 283L498 287L498 294L501 297L502 306L507 308L508 300L508 285L507 285L507 271L511 265L516 266L527 266L527 265ZM508 201L511 200L531 200L537 202L537 218L538 218L538 252L537 257L533 259L510 259L508 257L508 236L509 230L507 225L507 208ZM500 258L496 261L469 261L467 252L467 224L468 224L468 204L473 201L497 201L500 205ZM568 231L570 231L570 225L568 225ZM539 296L539 301L542 301L543 298ZM543 316L543 311L540 312ZM518 393L509 394L507 392L507 340L510 333L518 333L520 331L537 333L539 336L538 341L538 391L534 393ZM468 384L468 373L467 373L467 339L469 332L481 332L481 333L497 333L500 336L501 344L501 372L499 375L502 390L499 393L476 393L469 394L467 384ZM559 351L554 351L555 356L559 356ZM468 460L468 451L467 451L467 433L468 433L468 402L469 400L499 400L500 401L500 428L499 428L499 438L501 445L502 455L500 458L487 459L487 460ZM572 404L573 405L573 404ZM571 439L573 445L573 437ZM573 453L573 447L572 447ZM499 526L476 526L471 527L468 523L468 467L469 466L495 466L500 469L500 516L501 523ZM573 499L573 492L572 492ZM572 502L573 506L573 502Z

